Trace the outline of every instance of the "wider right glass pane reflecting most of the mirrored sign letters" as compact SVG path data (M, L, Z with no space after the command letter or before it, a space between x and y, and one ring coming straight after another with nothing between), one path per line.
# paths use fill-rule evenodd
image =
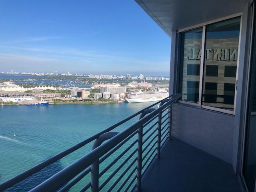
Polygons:
M234 110L240 17L206 26L202 105Z

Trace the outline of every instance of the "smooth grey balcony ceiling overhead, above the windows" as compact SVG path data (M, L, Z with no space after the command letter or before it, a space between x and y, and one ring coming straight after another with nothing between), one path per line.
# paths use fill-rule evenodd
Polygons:
M251 0L135 0L171 37L172 31L242 12Z

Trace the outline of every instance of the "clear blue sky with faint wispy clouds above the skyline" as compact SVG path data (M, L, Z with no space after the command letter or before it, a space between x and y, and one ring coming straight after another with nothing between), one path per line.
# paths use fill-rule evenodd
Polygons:
M0 71L168 76L171 39L133 0L0 0Z

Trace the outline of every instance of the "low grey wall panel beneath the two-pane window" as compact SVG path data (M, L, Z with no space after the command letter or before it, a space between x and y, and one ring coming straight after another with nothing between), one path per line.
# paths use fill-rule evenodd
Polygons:
M232 163L234 116L173 104L172 136Z

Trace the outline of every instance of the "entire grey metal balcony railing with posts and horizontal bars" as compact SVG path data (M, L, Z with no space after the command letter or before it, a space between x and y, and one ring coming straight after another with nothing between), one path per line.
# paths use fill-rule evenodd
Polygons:
M82 188L79 189L81 192L90 188L92 192L100 190L132 191L135 188L140 191L142 176L152 160L156 156L160 158L161 147L168 138L171 138L171 107L172 103L180 97L181 94L174 94L140 110L106 130L0 184L0 191L18 184L93 141L94 144L90 152L44 180L31 191L64 192L72 189L78 182L80 186L82 185ZM136 116L139 116L139 119L128 128L121 132L111 132ZM75 191L77 190L78 188L75 189Z

